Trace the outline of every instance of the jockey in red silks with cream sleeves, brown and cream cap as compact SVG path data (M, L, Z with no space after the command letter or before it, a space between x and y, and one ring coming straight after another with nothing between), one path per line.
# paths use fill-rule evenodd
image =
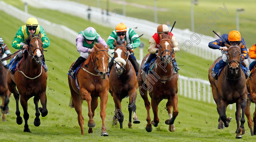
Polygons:
M141 66L142 70L146 71L146 69L145 69L146 63L150 63L150 61L158 55L158 48L159 48L159 44L160 44L159 35L162 33L172 36L171 42L172 42L172 46L173 46L173 51L174 52L180 51L180 46L178 44L176 37L171 32L169 32L169 28L167 25L161 24L157 27L157 33L155 33L152 36L152 38L149 40L148 52L151 54L148 56L145 63L143 64L143 66ZM175 65L174 68L175 68L176 72L178 70L180 70L180 68L177 66L176 59L174 59L174 65Z

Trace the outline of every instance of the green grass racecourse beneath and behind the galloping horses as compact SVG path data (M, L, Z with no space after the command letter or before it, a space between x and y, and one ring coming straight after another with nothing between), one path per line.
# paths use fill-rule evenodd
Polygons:
M17 0L8 1L8 3L17 7L19 5L23 6L23 4ZM0 36L3 37L10 50L14 52L15 49L11 47L12 39L18 28L24 23L2 11L0 12L1 18L4 19L0 22L0 27L4 27L0 28ZM72 30L75 30L77 33L84 30L86 27L92 26L105 40L113 30L95 25L75 16L70 16L68 14L63 14L49 9L35 9L29 6L28 12L37 17L47 19L52 23L63 24ZM30 114L28 125L31 133L24 133L24 122L22 125L16 124L15 100L13 95L11 95L9 104L11 114L6 115L7 122L0 122L0 141L82 141L85 137L88 137L85 141L241 141L235 139L235 110L227 109L227 117L232 117L233 119L228 128L218 130L217 126L219 115L216 111L215 104L191 100L180 95L178 96L179 115L174 123L176 131L173 133L169 132L168 126L164 123L165 120L169 118L167 111L165 110L167 100L163 100L159 104L158 116L160 123L158 127L154 127L152 132L148 133L145 130L146 109L144 107L144 101L141 98L136 102L136 112L141 123L133 124L131 129L128 128L128 108L122 103L124 129L120 130L119 124L115 126L111 125L107 121L107 119L113 115L114 110L113 98L109 95L108 105L106 108L106 121L109 126L107 132L109 137L98 137L95 134L95 140L87 133L88 110L86 101L82 106L85 135L80 135L77 114L73 108L68 107L70 91L66 74L69 66L73 61L75 61L79 54L76 51L75 45L50 34L47 34L47 36L50 39L50 46L47 48L48 51L44 52L45 58L53 61L46 62L49 68L46 91L48 97L48 115L44 118L40 116L41 125L39 127L34 126L34 103L33 99L30 99L28 101L28 113ZM141 40L146 43L145 47L147 47L148 41L143 38ZM135 55L138 55L136 53L138 53L138 50L135 50ZM147 49L145 48L144 54L146 53ZM208 78L208 68L211 63L212 61L204 60L190 54L184 54L182 58L178 59L178 64L184 65L180 67L180 75L197 77L204 80L207 80ZM41 104L39 104L39 107L40 106ZM101 127L99 112L100 108L98 107L95 110L94 116L94 121L96 123L96 127L93 129L94 133ZM21 115L23 115L22 109ZM150 115L152 120L152 109ZM255 141L255 136L251 137L250 135L247 119L245 122L245 131L246 133L243 135L242 141Z

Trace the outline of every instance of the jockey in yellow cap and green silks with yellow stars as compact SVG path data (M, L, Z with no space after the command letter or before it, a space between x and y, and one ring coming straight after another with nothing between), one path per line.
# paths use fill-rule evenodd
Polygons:
M47 48L50 45L50 41L48 37L46 36L43 27L41 27L36 18L29 18L26 22L26 25L23 25L20 27L20 29L17 31L13 41L12 41L12 47L15 49L27 49L29 46L26 44L26 39L29 37L30 34L39 34L41 33L41 40L43 42L43 48ZM11 66L9 66L10 72L13 74L14 71L12 71L12 65L14 62L19 61L23 57L23 53L25 53L26 50L21 50L15 57L14 61L12 62ZM42 61L44 61L44 55L42 58ZM45 72L48 70L46 64L44 64Z

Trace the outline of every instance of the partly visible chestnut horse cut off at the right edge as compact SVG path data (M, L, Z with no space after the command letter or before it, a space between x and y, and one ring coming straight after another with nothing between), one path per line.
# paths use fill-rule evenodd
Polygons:
M251 119L251 102L256 105L256 73L251 71L251 80L246 80L247 91L250 96L247 99L247 106L245 108L245 115L247 117L248 126L251 131L251 135L256 135L256 106L255 111L253 113L253 120Z

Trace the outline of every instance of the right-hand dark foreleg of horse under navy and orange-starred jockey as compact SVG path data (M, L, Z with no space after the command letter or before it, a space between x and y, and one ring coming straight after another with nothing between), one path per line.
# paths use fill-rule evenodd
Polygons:
M243 95L244 97L242 98L241 100L241 108L242 108L242 117L241 117L241 125L240 127L237 129L237 134L240 134L240 135L243 135L245 133L245 130L244 130L244 122L245 122L245 119L244 119L244 113L245 113L245 108L246 108L246 100L247 100L247 94L244 93Z

